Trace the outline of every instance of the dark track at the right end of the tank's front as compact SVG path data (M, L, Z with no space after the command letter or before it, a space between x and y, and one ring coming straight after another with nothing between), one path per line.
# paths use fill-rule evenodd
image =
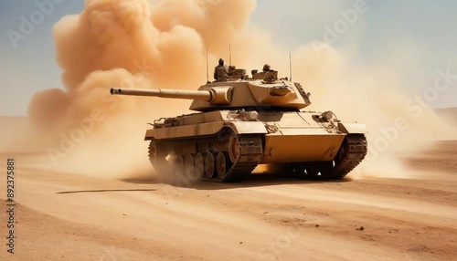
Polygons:
M362 162L367 155L367 138L363 134L348 134L343 141L342 149L339 151L335 159L335 167L328 177L324 179L341 179L346 174L354 170L356 166ZM338 160L338 161L336 161Z

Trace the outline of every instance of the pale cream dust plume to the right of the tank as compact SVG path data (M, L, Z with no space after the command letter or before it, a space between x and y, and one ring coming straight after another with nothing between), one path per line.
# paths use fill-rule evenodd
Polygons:
M323 51L316 53L316 48ZM402 90L399 73L408 74L409 68L391 68L399 62L394 54L387 51L388 63L377 61L371 66L356 64L345 51L324 43L302 47L297 54L303 58L299 66L304 73L295 79L309 87L314 102L310 109L333 110L343 122L367 124L368 154L350 178L418 176L404 166L402 156L424 150L430 141L457 139L455 128L427 102L427 91L439 90L432 85L418 87L413 97Z

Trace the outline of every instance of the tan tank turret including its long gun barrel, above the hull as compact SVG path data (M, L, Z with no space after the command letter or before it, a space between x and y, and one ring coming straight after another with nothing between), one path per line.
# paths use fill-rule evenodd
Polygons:
M310 94L299 83L278 79L277 71L253 71L252 78L243 73L207 83L198 90L182 89L111 89L112 94L193 99L190 110L300 110L311 104ZM239 71L245 71L239 69Z

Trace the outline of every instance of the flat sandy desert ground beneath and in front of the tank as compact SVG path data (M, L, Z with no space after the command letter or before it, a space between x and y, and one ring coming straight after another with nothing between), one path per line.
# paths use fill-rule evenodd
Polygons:
M405 156L416 174L175 187L46 170L14 158L15 254L7 253L0 172L1 260L455 260L457 141ZM390 175L391 176L391 175Z

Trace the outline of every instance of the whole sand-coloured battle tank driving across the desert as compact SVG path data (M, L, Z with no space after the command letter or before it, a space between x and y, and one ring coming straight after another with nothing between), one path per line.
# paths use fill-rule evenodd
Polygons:
M367 154L367 127L331 110L303 110L310 93L275 70L233 66L197 90L111 89L113 95L193 99L197 113L154 120L144 136L155 170L184 180L236 182L259 164L310 180L337 180ZM154 100L153 100L154 102ZM192 177L192 178L189 178Z

